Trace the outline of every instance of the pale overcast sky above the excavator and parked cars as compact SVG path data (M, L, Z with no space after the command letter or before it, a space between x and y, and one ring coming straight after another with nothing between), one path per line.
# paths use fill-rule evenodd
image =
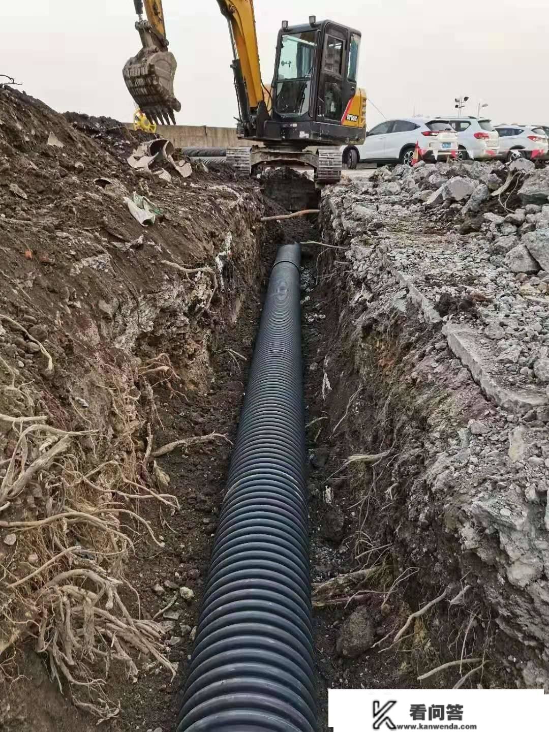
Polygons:
M296 10L296 8L301 10ZM231 125L236 113L231 47L215 0L164 0L179 62L179 124ZM270 83L281 20L310 14L362 31L359 83L386 117L466 113L494 122L549 124L548 0L255 0L264 82ZM122 80L140 42L132 0L0 0L0 73L58 111L129 121ZM368 127L383 117L370 105Z

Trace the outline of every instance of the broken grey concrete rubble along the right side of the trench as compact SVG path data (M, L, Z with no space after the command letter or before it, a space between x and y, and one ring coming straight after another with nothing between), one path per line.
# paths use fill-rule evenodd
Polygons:
M324 190L322 216L347 249L359 369L365 334L406 341L395 378L427 419L389 479L407 481L394 521L408 566L437 589L466 575L512 648L510 683L547 690L549 171L382 168Z

